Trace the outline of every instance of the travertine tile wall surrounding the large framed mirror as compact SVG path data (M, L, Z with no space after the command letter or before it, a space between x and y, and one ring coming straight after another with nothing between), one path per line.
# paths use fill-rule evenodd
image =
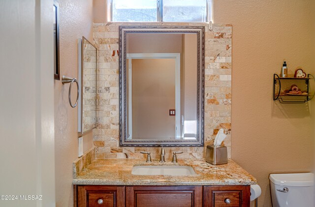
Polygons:
M143 158L140 151L159 157L159 147L120 147L119 142L119 26L134 23L94 24L93 37L98 50L97 121L94 129L96 158ZM232 26L188 23L146 23L137 25L205 26L205 114L204 147L165 148L166 159L173 151L184 151L178 158L202 158L219 129L227 137L224 145L231 155L231 48Z

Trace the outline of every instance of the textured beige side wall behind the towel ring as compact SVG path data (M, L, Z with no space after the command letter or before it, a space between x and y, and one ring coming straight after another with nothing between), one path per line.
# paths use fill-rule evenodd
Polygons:
M93 1L60 0L60 73L78 77L78 38L92 40ZM78 157L77 107L68 101L69 84L55 80L56 206L73 206L72 162ZM73 94L75 90L73 91ZM75 97L73 97L75 99ZM74 100L75 101L75 100ZM73 102L74 102L73 101ZM92 133L84 149L92 147Z

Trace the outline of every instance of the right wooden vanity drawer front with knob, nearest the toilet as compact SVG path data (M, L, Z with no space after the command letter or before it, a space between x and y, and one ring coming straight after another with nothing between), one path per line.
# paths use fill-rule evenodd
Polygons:
M204 186L204 207L250 207L250 185Z

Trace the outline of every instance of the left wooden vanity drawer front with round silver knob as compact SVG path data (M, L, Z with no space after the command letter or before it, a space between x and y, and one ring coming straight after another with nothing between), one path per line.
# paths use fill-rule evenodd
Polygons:
M125 186L77 185L77 207L125 207Z

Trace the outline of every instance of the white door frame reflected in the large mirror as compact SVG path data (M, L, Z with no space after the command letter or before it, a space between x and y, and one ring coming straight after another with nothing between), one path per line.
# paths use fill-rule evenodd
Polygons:
M175 59L175 137L181 137L181 53L126 53L126 59L128 60L127 137L132 138L132 59Z

